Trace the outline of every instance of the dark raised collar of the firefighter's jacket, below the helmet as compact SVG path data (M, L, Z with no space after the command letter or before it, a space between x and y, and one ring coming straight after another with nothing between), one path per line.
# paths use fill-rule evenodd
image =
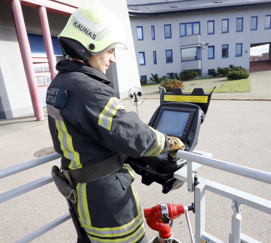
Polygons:
M101 81L103 83L109 84L112 81L108 80L100 71L95 68L92 68L82 62L76 60L62 60L57 63L56 69L60 72L80 72L84 73L92 78Z

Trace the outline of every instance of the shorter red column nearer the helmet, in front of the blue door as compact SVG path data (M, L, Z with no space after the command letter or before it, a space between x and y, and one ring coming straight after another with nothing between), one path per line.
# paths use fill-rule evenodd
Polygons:
M43 6L39 7L39 20L42 27L42 35L43 35L45 50L46 50L46 54L49 60L49 69L51 71L51 79L53 80L54 77L57 75L57 70L56 70L57 63L54 56L54 50L53 50L53 44L52 44L52 39L51 39L51 34L50 34L50 29L49 29L46 8Z

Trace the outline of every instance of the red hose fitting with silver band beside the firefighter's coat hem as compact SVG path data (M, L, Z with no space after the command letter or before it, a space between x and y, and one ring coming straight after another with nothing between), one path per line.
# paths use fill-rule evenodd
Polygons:
M158 231L159 237L162 239L169 239L173 236L170 225L166 220L177 219L183 213L185 213L183 205L169 203L144 209L147 225L151 229Z

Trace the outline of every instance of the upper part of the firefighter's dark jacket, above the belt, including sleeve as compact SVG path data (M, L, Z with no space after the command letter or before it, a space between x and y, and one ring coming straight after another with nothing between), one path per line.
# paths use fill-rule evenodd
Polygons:
M57 64L46 103L55 150L64 169L85 167L125 153L156 156L168 148L166 134L126 112L109 81L97 69L76 60Z

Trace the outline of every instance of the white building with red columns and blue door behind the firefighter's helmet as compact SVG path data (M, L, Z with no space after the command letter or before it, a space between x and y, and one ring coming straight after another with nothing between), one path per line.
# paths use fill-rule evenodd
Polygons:
M0 0L0 4L0 119L33 111L37 120L44 119L42 107L46 106L47 87L57 73L55 64L66 58L57 35L71 13L83 5L110 9L126 30L128 50L116 50L116 63L106 73L117 97L127 97L131 87L140 85L126 0L117 5L110 0Z

